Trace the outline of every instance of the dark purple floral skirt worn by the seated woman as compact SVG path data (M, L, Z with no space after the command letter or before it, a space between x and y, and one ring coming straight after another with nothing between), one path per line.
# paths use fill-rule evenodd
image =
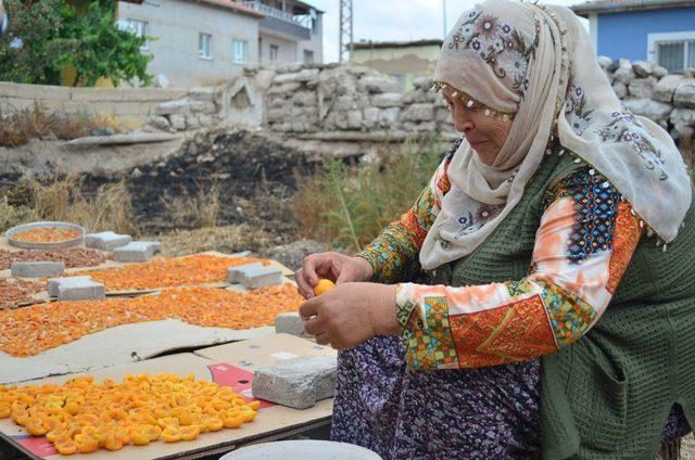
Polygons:
M331 438L391 459L536 459L540 360L412 372L400 337L341 352ZM679 413L680 412L680 413ZM667 440L690 431L674 410Z

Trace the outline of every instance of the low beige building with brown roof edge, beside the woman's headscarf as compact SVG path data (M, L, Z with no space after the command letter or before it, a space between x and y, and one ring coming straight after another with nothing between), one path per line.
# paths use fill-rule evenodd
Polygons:
M413 80L432 77L442 40L361 41L350 44L351 61L391 75L405 91L413 90Z

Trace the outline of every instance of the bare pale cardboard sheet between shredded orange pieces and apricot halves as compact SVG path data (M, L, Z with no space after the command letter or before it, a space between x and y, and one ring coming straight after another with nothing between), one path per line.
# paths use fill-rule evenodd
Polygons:
M110 328L35 356L14 357L0 352L0 384L48 375L84 372L135 362L177 349L204 347L267 336L274 327L248 330L202 328L167 319Z

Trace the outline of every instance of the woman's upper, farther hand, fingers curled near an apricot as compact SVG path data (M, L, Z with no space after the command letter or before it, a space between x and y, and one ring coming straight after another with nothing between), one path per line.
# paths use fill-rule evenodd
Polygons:
M314 286L321 278L342 284L369 281L372 276L371 265L362 257L318 253L302 260L302 268L294 272L294 280L304 298L312 298L316 296Z

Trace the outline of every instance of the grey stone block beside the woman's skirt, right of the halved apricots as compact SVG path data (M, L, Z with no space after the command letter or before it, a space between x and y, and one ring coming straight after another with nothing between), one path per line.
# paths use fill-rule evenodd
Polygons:
M294 358L253 374L253 396L295 409L307 409L336 392L334 357Z

